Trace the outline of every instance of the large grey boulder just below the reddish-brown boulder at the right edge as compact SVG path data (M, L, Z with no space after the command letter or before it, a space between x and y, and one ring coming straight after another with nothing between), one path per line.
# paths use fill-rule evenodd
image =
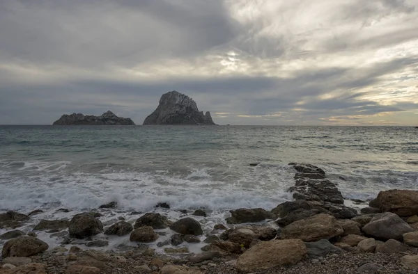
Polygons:
M414 231L408 223L391 212L377 213L370 223L364 225L363 232L378 239L402 239L402 235Z

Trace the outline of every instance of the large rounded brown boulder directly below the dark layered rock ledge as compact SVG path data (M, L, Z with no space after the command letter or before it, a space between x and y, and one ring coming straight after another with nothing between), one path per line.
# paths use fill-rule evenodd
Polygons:
M331 239L343 234L342 227L329 214L318 214L303 220L297 220L284 227L281 239L301 239L302 241L318 241Z

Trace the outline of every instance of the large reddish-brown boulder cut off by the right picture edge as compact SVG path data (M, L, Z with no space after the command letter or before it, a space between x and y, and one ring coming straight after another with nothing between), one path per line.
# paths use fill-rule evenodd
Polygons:
M401 217L414 216L418 214L418 191L398 189L380 191L378 197L370 202L370 206Z

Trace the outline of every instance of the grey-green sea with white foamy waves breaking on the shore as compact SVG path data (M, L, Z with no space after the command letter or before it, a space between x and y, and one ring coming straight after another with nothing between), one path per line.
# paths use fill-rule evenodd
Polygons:
M116 209L100 210L104 226L118 218L132 223L145 212L177 220L205 209L206 218L193 218L210 233L231 209L270 210L291 200L291 162L323 168L347 204L357 199L365 206L379 191L418 189L418 129L0 126L0 213L41 209L20 228L29 232L41 219L71 218L113 201ZM155 208L160 202L170 209ZM57 212L61 208L70 212ZM160 238L169 239L169 229L164 233ZM50 246L61 241L38 236ZM119 237L107 248L121 245L132 243Z

